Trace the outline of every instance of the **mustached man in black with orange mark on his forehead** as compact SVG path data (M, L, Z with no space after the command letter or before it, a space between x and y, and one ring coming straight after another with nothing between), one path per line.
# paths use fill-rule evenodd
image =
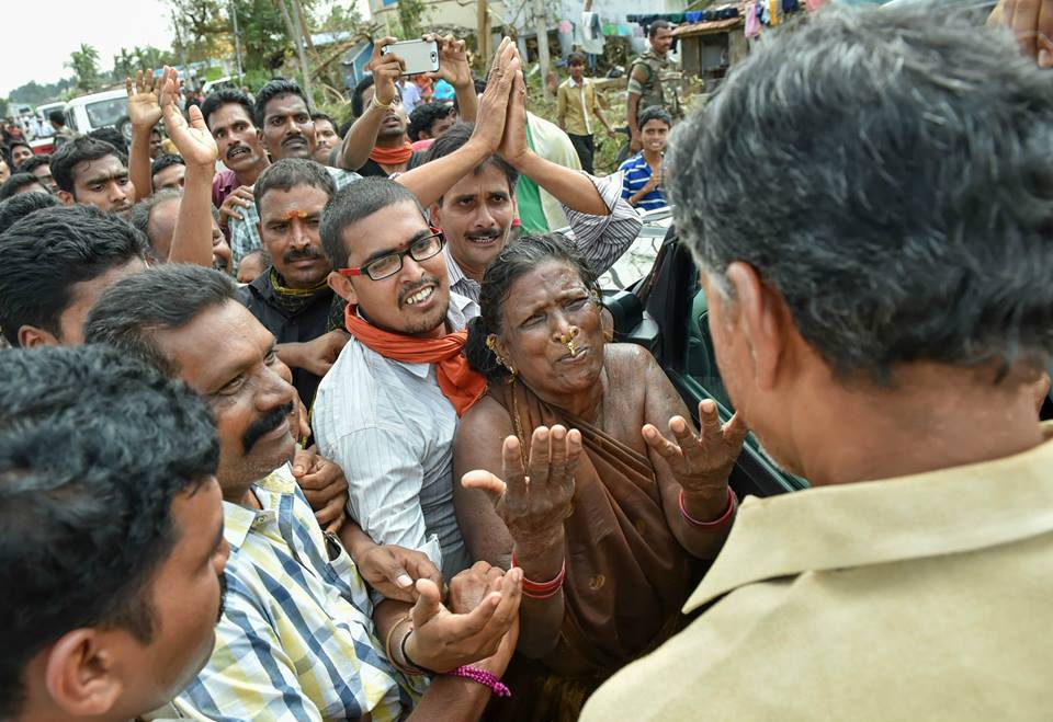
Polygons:
M321 211L337 192L318 163L285 158L256 183L259 233L271 265L238 290L278 339L278 355L293 369L293 386L309 409L318 382L348 342L343 305L326 279L332 270L321 248Z

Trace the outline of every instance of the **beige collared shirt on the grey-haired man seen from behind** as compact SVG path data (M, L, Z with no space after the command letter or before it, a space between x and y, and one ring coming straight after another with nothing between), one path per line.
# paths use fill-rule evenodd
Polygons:
M1053 719L1053 442L747 498L704 605L581 719Z

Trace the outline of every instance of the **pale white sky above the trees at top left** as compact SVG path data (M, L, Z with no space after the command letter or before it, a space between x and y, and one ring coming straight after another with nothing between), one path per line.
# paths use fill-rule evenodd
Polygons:
M113 67L113 56L122 47L152 45L167 49L172 45L171 20L163 0L48 0L46 8L41 19L47 20L39 27L30 22L26 32L4 33L0 98L31 80L45 84L69 77L72 71L64 64L81 43L99 50L103 70ZM33 16L29 8L22 15L25 20Z

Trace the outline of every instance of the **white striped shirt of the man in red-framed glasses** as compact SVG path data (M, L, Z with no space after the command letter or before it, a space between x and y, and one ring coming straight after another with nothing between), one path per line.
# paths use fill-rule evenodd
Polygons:
M472 306L450 294L451 329ZM457 415L433 364L385 358L352 336L318 387L312 427L348 479L351 517L377 543L428 554L446 580L471 565L453 509Z

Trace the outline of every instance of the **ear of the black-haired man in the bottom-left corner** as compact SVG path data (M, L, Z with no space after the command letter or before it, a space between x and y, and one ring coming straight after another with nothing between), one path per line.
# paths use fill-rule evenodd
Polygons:
M95 629L75 629L43 652L47 694L71 718L110 714L124 694L105 639Z

